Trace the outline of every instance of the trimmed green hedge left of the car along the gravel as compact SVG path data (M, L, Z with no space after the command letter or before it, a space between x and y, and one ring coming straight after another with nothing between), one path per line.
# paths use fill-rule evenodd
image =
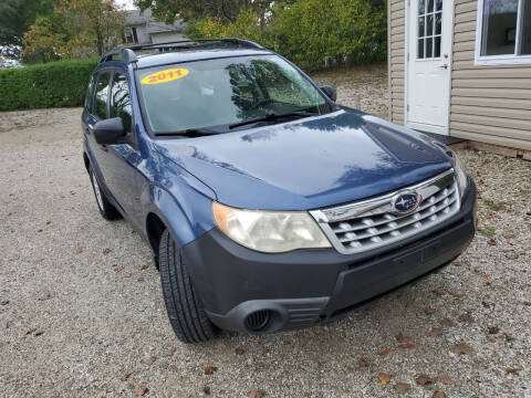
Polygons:
M81 106L97 60L0 71L0 111Z

